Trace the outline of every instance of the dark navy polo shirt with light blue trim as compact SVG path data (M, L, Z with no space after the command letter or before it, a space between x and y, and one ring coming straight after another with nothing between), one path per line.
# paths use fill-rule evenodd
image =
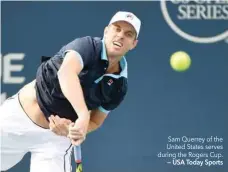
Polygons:
M99 108L108 114L118 107L127 93L127 61L122 57L118 74L105 74L109 62L105 44L101 38L77 38L63 46L52 58L42 62L36 75L38 104L48 118L57 114L72 121L77 114L63 95L57 72L68 51L76 51L83 66L79 74L85 102L89 110Z

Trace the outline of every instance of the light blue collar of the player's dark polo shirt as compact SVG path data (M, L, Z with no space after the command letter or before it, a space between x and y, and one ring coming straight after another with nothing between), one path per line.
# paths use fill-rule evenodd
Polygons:
M103 39L102 39L101 59L108 61L108 57L106 54L106 47ZM120 60L120 67L121 67L120 76L127 78L127 60L125 56L123 56Z

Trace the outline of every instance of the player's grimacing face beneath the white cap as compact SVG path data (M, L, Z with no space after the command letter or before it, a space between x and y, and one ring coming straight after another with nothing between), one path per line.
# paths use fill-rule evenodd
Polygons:
M133 26L124 21L107 26L104 38L108 56L123 56L134 49L138 42Z

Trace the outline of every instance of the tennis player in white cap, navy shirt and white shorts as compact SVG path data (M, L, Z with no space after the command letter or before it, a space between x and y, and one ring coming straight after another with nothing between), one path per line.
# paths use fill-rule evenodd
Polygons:
M30 172L71 171L72 144L81 144L87 131L102 125L127 93L124 55L136 47L140 26L133 13L120 11L103 39L77 38L55 56L42 57L35 80L0 107L1 171L27 152ZM68 137L50 130L52 114L69 125Z

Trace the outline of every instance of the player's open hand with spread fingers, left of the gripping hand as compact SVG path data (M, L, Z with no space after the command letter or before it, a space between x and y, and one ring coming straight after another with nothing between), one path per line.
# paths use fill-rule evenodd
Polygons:
M66 136L69 133L71 120L60 118L58 115L51 115L49 118L49 128L52 132L60 136Z

